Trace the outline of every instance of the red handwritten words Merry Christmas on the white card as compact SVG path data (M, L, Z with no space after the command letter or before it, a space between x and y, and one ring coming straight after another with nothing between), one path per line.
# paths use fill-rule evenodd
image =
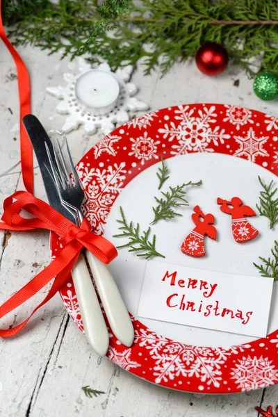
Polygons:
M202 279L177 279L177 271L172 273L166 271L162 281L167 282L170 284L170 286L177 285L179 288L188 288L201 291L204 298L212 297L213 293L218 287L218 284L208 284L207 281L203 281ZM227 307L222 307L219 305L220 302L218 300L215 300L213 304L205 304L204 300L200 300L197 303L194 301L189 301L186 300L185 293L181 295L179 293L170 294L169 297L166 298L166 304L170 309L178 308L179 310L183 311L196 311L197 313L203 314L204 317L208 317L211 314L214 314L215 317L229 316L231 319L238 318L241 320L243 325L247 325L247 322L249 322L250 317L253 314L253 311L247 311L244 313L240 309L236 309L236 311L234 311Z

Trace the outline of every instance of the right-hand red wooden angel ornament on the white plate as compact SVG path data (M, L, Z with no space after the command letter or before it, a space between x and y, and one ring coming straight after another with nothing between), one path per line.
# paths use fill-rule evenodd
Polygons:
M233 197L230 202L218 198L217 202L221 204L221 211L231 214L231 230L236 242L243 243L256 238L259 231L248 223L244 217L245 215L256 215L251 207L243 206L243 202L238 197Z

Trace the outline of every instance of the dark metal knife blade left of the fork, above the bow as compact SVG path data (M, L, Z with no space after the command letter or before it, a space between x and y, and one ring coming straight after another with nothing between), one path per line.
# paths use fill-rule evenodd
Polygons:
M59 211L59 213L63 214L65 218L75 223L76 219L74 213L71 213L69 210L67 210L67 208L63 206L58 195L55 180L51 174L51 165L49 163L49 158L47 156L47 152L45 151L43 142L47 143L54 163L55 158L54 148L47 132L40 123L40 120L38 120L38 118L34 115L26 115L23 117L22 121L32 142L35 156L37 157L38 164L40 166L42 181L44 182L44 188L47 193L49 204L51 207L55 208L55 210Z

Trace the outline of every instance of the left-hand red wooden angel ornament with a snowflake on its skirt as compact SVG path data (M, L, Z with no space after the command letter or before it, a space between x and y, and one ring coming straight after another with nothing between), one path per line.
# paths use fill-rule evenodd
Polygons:
M214 224L214 216L212 214L204 214L199 206L194 207L195 213L191 215L196 227L181 245L181 252L190 256L204 256L206 251L204 249L204 236L211 239L216 239L217 231L212 224Z

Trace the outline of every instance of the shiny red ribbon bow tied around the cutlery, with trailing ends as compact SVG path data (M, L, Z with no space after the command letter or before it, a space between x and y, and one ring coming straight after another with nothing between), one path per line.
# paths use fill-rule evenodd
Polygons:
M15 201L13 201L15 200ZM12 329L0 329L0 336L9 337L19 332L28 320L33 316L41 306L48 302L59 289L66 284L70 272L76 262L83 247L94 254L101 262L109 263L117 256L115 246L106 238L99 236L90 231L90 223L84 219L81 227L76 226L70 220L54 210L49 204L34 197L26 191L17 191L10 197L6 198L3 203L4 213L2 216L3 223L0 223L0 229L27 231L33 229L47 229L54 231L62 240L63 249L60 254L52 261L47 268L36 275L13 297L10 297L2 306L0 306L0 318L13 311L18 306L26 302L35 293L38 293L51 279L54 279L47 297L36 306L31 315ZM33 218L24 218L20 211L24 209Z

